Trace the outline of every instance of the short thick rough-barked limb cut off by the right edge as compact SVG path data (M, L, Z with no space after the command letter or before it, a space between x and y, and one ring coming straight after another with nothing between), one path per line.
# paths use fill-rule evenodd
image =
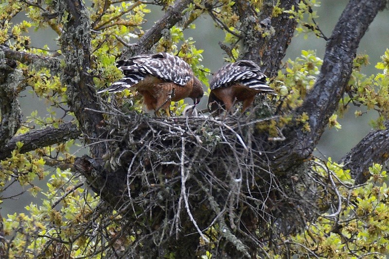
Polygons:
M350 169L355 184L368 180L369 167L373 163L383 164L389 158L389 121L385 123L385 130L371 131L365 138L340 160L344 169ZM361 159L362 158L362 159Z

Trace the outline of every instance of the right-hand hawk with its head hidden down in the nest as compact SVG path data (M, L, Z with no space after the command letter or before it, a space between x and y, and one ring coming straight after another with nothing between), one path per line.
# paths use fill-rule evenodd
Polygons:
M251 60L240 60L219 69L212 78L210 88L210 112L219 110L220 106L232 112L232 105L238 101L243 102L243 113L252 105L255 95L274 92L266 85L266 76L260 67Z

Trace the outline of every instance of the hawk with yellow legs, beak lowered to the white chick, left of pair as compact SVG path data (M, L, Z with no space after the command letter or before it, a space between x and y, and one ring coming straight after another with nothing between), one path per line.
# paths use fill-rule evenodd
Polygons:
M143 96L146 112L159 116L159 109L170 116L170 102L192 98L195 105L200 102L204 91L188 63L166 52L154 55L139 55L118 62L124 77L102 92L120 92L134 87Z

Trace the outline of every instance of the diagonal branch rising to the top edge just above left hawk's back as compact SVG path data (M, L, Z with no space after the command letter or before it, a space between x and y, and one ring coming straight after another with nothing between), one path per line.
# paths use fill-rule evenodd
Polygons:
M172 28L184 16L182 12L188 7L192 0L176 0L174 5L169 6L165 15L148 30L138 42L130 44L128 50L124 52L123 57L128 58L134 55L148 52L154 44L162 37L163 30Z

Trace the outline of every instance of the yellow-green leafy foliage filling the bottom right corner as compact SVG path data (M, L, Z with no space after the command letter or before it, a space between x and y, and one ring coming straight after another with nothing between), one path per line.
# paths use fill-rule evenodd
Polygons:
M308 223L302 233L287 237L291 254L323 258L386 258L388 240L388 175L378 164L369 168L369 181L354 186L350 172L332 163L319 164L317 173L329 172L339 204ZM287 253L284 251L283 253Z

